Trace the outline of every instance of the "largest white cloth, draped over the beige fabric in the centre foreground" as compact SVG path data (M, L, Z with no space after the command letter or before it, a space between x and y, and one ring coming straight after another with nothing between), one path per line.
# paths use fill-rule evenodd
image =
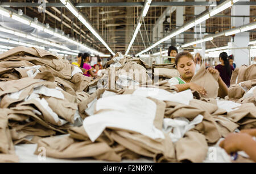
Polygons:
M100 113L86 117L83 122L92 142L106 127L139 132L152 139L164 139L163 132L154 126L156 104L148 98L131 94L100 98L96 111L100 110Z

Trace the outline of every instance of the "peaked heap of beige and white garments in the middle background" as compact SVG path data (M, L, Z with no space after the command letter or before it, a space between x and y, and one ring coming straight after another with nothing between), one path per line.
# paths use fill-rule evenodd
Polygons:
M139 84L151 83L147 74L150 67L141 59L124 56L121 53L115 54L106 63L106 69L102 71L101 77L96 78L89 84L89 94L100 89L127 89L135 88Z

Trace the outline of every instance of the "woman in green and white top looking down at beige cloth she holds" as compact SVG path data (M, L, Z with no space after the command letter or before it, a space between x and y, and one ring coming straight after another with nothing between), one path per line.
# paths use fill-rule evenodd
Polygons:
M177 67L177 71L180 73L180 77L172 77L168 82L170 85L174 85L179 92L191 89L196 90L197 92L206 95L207 91L202 86L199 86L193 82L190 82L192 77L195 75L196 64L194 61L194 57L191 53L184 51L177 54L175 58L175 65ZM207 69L210 73L218 73L217 69L209 67ZM219 85L219 94L218 96L224 98L228 95L228 87L222 81L221 77L218 78Z

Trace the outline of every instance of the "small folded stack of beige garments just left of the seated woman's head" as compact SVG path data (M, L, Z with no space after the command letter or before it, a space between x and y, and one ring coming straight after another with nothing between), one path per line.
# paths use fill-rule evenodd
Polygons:
M174 63L171 64L152 64L152 80L160 82L168 81L172 77L179 77L180 73L176 69Z

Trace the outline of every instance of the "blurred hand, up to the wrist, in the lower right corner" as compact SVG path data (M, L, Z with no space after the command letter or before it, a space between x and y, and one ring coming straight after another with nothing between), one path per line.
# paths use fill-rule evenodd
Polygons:
M242 151L243 145L252 139L249 134L232 133L226 136L225 140L220 142L220 147L230 154L232 152Z

